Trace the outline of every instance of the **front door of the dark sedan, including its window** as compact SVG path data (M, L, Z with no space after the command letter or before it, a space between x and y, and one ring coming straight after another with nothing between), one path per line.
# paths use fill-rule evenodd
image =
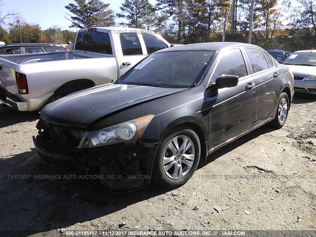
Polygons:
M213 148L251 129L256 120L256 84L239 48L221 56L211 83L223 74L236 75L239 79L235 87L205 91L206 100L216 100L209 114Z

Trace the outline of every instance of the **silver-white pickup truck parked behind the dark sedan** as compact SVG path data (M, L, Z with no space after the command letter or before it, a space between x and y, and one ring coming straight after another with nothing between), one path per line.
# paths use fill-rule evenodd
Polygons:
M110 83L170 46L146 30L97 27L81 29L71 52L0 55L0 102L19 111L38 110L75 91Z

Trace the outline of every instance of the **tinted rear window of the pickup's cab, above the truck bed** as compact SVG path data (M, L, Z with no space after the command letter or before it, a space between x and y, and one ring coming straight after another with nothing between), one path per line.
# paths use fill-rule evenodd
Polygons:
M112 55L110 36L105 32L80 32L77 37L75 48L82 51Z

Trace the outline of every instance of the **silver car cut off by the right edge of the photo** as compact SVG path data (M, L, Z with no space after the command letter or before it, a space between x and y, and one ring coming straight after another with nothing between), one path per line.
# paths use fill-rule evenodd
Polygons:
M287 57L287 64L294 75L294 90L316 95L316 50L300 50Z

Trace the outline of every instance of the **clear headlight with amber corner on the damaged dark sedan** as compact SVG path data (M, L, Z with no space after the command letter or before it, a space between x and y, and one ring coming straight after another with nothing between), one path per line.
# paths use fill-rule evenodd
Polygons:
M85 132L78 148L101 147L141 138L155 115L135 118L96 131Z

